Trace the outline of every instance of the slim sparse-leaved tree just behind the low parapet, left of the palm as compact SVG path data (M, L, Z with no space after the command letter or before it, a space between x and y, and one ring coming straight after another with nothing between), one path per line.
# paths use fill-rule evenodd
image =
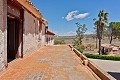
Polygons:
M86 25L80 25L80 23L76 23L78 29L76 30L76 38L74 39L75 43L74 46L75 47L80 47L82 45L82 39L84 38L84 33L86 32L87 28Z

